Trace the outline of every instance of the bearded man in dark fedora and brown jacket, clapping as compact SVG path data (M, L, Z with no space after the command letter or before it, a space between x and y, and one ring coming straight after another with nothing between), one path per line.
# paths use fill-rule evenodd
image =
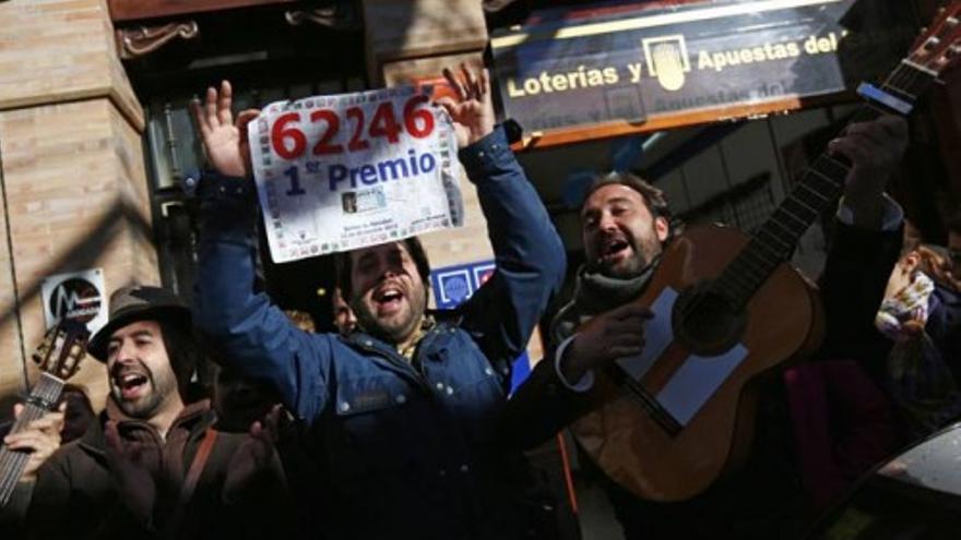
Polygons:
M158 287L110 297L109 322L88 346L107 370L107 406L38 471L32 538L256 538L233 536L250 523L227 516L257 515L250 511L268 497L282 500L270 430L217 432L210 400L187 397L200 356L190 321L190 310ZM232 470L245 477L230 478Z

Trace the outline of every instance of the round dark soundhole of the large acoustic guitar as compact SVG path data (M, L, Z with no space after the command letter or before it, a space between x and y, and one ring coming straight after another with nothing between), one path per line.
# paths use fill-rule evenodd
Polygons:
M712 357L740 340L747 317L726 296L704 283L680 293L671 322L681 345L695 355Z

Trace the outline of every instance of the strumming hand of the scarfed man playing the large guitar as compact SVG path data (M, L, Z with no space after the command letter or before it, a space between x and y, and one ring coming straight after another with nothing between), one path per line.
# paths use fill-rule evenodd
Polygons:
M644 349L644 322L652 316L649 309L629 303L592 319L563 351L560 369L565 379L576 383L588 370L640 355Z

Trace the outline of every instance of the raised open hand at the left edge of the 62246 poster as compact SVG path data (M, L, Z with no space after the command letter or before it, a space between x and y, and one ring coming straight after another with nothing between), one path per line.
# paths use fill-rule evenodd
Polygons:
M206 157L214 169L228 177L250 176L250 143L247 140L247 124L260 113L256 109L247 109L237 115L230 107L234 104L234 91L229 81L221 83L220 92L213 86L206 89L201 104L190 104Z

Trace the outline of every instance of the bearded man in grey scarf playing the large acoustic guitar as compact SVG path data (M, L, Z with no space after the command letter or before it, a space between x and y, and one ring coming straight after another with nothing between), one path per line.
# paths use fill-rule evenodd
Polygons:
M871 339L873 320L887 276L898 259L903 214L883 194L885 184L906 146L906 123L894 117L855 123L830 151L852 164L839 209L837 231L821 279L827 335L820 358L857 358L858 345ZM551 327L554 362L542 362L511 400L518 425L511 436L525 444L590 409L593 370L640 353L644 324L652 313L637 300L656 269L672 236L667 204L656 188L627 173L597 178L581 207L586 262L578 274L574 298ZM596 317L581 333L578 327ZM629 539L783 538L798 531L791 523L793 493L775 491L794 482L780 383L762 392L756 445L740 472L704 494L681 503L642 501L610 482L608 493ZM773 388L773 389L772 389ZM545 422L551 418L555 423ZM535 419L537 421L535 421ZM532 430L537 425L543 431ZM785 431L786 432L786 431ZM773 457L773 459L772 459ZM656 463L650 467L657 467Z

